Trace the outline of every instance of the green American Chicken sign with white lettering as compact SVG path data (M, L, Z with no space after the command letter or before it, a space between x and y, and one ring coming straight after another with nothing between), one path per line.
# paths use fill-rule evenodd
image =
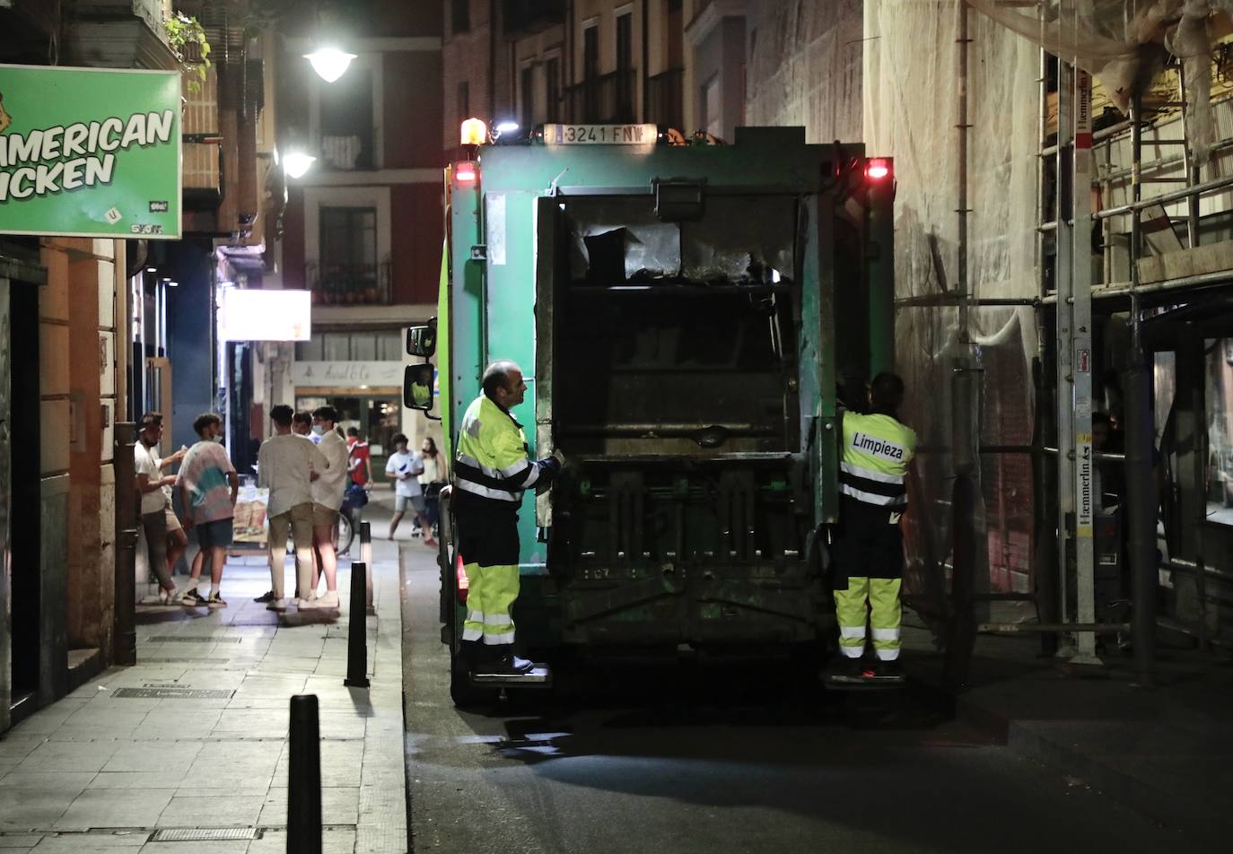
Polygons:
M0 234L180 237L180 74L0 64Z

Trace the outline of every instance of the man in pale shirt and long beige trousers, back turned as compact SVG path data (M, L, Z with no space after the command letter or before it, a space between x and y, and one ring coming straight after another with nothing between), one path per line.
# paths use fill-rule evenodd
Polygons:
M266 515L270 521L271 611L285 611L282 579L286 573L287 531L296 550L297 589L303 593L312 580L312 482L329 465L312 442L291 431L291 407L279 404L270 410L274 436L261 442L256 455L258 486L270 490ZM265 599L265 596L259 598ZM301 599L296 599L300 606Z

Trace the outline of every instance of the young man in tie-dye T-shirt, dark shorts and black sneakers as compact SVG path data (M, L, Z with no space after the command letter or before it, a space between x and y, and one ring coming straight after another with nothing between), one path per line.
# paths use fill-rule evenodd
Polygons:
M189 589L180 598L181 605L197 608L227 608L219 587L227 547L232 543L236 516L236 498L239 495L239 474L221 445L223 419L212 412L197 415L192 429L201 437L189 449L180 466L175 484L184 504L184 526L196 530L200 550L192 558ZM197 592L201 571L210 561L210 598Z

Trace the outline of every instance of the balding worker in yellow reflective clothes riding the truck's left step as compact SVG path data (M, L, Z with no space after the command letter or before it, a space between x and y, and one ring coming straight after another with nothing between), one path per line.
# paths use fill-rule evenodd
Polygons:
M462 653L476 675L518 675L531 669L513 652L518 506L524 489L560 473L563 457L557 451L530 460L523 425L509 412L526 393L518 365L493 362L482 386L483 393L462 415L454 460L453 506L469 583Z

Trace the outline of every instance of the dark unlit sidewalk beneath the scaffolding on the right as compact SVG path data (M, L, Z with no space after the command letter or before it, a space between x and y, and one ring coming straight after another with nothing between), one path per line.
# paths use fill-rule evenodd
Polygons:
M906 635L906 633L905 633ZM917 632L905 667L936 681L941 658ZM905 636L905 641L906 641ZM1158 648L1157 681L1134 684L1133 661L1107 656L1101 678L1064 675L1032 637L980 637L956 705L1017 754L1071 786L1105 792L1207 845L1233 838L1233 662L1224 653Z

